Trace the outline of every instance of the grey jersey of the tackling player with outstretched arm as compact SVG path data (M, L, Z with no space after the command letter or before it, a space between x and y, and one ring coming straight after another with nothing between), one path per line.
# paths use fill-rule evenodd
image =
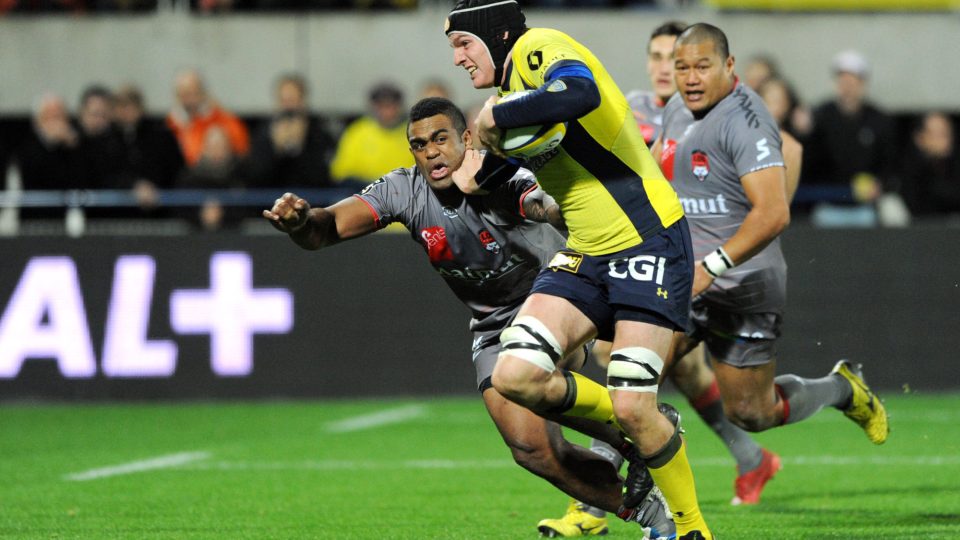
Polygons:
M502 327L564 238L552 226L527 220L522 204L542 193L520 169L488 195L456 187L435 192L416 167L396 169L356 195L378 227L402 223L434 270L470 308L470 329Z

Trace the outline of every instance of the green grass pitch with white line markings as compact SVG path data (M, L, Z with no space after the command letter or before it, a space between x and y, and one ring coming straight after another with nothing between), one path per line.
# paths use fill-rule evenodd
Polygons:
M665 400L724 540L960 538L960 394L885 397L881 447L834 410L758 435L784 469L756 507L729 506L732 458ZM479 397L4 404L0 458L2 538L523 539L567 502L512 463Z

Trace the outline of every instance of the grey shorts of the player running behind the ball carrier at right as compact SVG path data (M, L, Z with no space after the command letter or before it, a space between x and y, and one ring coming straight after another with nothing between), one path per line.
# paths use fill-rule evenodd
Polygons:
M734 367L769 364L777 356L779 313L734 313L706 302L690 310L687 335L703 341L710 355Z

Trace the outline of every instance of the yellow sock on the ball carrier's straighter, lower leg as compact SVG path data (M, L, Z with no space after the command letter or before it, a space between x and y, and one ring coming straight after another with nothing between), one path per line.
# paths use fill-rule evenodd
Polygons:
M670 505L673 522L677 525L677 538L690 531L700 531L704 538L713 540L713 535L707 529L707 522L700 514L693 471L687 461L687 445L681 441L673 456L662 455L669 453L671 446L674 445L667 443L668 448L661 451L661 455L648 458L647 469Z

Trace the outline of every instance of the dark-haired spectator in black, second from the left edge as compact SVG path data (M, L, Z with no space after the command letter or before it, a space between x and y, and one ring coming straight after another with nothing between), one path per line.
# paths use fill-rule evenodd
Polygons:
M113 94L102 85L87 87L77 114L78 152L83 167L81 187L115 188L123 169L123 143L111 124ZM99 211L99 215L109 212Z

